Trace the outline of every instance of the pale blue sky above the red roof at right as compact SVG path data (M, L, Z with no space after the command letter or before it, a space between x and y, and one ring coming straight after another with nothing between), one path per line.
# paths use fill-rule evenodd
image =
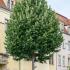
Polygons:
M70 0L47 0L48 5L57 13L70 19Z

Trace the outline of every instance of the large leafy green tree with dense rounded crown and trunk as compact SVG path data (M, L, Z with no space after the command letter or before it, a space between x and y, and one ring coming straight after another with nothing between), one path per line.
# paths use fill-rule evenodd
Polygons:
M16 3L8 21L6 49L16 60L45 62L63 41L56 14L45 0Z

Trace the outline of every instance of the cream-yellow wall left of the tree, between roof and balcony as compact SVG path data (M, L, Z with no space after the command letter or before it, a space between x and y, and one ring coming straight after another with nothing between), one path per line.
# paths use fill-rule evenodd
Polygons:
M0 9L0 53L5 53L5 46L4 46L4 42L5 42L5 19L9 18L9 12L7 13L7 11L5 11L4 9Z

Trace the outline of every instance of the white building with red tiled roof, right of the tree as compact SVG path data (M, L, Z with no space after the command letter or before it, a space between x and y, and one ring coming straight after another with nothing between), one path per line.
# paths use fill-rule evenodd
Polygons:
M60 51L53 55L54 70L69 70L70 67L70 20L57 14L60 22L60 29L63 32L63 43Z

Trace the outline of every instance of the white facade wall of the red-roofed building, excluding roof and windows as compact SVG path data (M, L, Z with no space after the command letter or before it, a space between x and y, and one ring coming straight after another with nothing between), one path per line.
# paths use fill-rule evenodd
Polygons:
M69 54L70 54L70 51L68 50L68 48L69 48L68 41L70 41L70 36L66 35L66 34L63 34L63 38L64 38L65 48L63 48L63 45L61 45L61 47L60 47L61 50L54 54L55 70L67 70L68 57L69 57ZM58 65L58 63L59 63L58 55L61 55L61 66ZM65 66L63 66L63 56L65 56Z

